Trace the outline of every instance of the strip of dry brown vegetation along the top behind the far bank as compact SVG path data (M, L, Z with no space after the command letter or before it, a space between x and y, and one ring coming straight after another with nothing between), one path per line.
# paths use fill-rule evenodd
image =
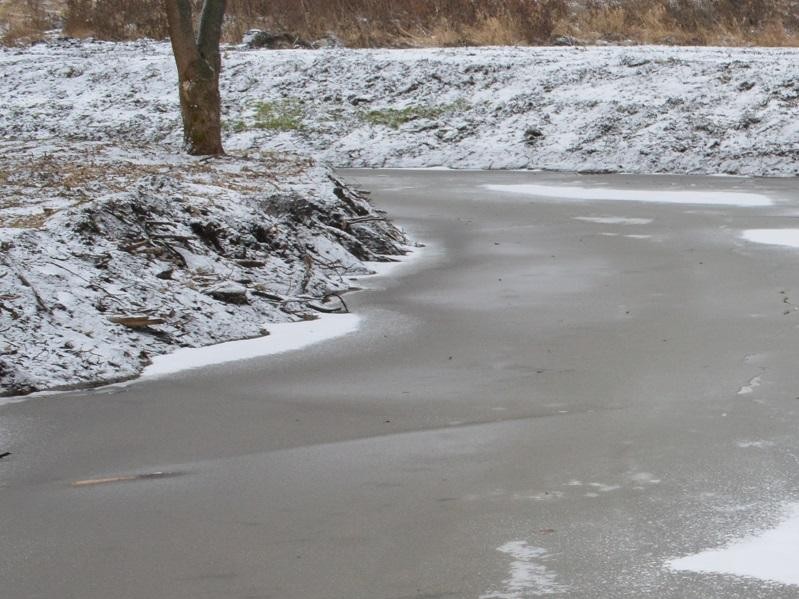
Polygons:
M4 39L51 26L44 0L0 0ZM73 36L167 37L161 0L61 0ZM229 0L225 39L250 28L351 47L546 44L558 36L696 45L794 45L799 0ZM11 10L9 7L13 7ZM9 26L9 14L16 17ZM20 18L20 15L27 15Z

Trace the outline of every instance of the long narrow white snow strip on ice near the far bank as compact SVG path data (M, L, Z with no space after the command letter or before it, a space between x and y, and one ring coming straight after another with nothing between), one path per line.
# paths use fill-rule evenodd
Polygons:
M559 185L485 184L484 189L556 200L651 202L656 204L700 204L711 206L772 206L774 201L758 193L723 191L653 191L648 189L610 189Z

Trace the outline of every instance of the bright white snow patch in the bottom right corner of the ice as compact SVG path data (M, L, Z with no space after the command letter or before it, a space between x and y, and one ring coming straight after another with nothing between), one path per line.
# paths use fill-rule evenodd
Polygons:
M799 504L785 510L776 528L668 562L672 570L729 574L799 585Z

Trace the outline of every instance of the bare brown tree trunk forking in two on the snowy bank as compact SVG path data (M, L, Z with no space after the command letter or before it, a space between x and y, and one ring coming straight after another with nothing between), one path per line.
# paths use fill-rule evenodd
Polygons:
M225 152L219 97L219 39L225 4L225 0L204 0L195 34L191 0L164 0L178 67L183 139L186 151L196 156Z

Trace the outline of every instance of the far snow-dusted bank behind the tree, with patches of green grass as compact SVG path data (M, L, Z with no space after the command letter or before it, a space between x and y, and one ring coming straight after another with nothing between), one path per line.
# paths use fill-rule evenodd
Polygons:
M337 166L799 172L799 50L225 52L228 147ZM0 50L0 135L180 141L163 43Z

